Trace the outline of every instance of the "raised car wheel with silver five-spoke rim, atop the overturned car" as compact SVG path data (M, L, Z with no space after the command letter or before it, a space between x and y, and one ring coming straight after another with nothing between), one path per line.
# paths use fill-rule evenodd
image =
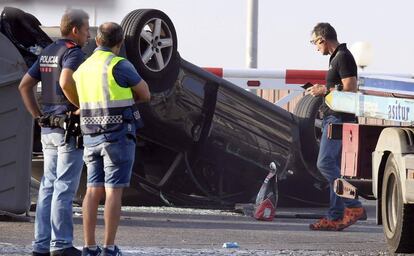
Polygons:
M177 66L177 34L170 18L159 10L139 9L121 22L125 50L145 80L159 79Z

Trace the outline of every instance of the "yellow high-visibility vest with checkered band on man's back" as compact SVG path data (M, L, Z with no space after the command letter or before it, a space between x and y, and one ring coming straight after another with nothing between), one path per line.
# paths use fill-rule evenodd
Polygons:
M132 111L131 89L118 85L112 74L114 66L123 59L97 50L74 73L84 134L119 130L126 121L125 111Z

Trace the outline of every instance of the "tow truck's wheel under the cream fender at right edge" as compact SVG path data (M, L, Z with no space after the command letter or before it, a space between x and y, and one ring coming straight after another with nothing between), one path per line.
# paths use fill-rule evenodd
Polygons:
M388 248L393 253L414 252L414 205L404 204L401 181L394 156L385 166L382 181L382 225Z

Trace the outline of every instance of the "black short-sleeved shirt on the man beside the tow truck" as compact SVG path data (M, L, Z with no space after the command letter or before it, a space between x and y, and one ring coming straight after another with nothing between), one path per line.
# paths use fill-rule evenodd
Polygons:
M328 91L330 88L334 88L335 85L342 85L342 79L353 76L358 76L355 59L348 48L346 48L346 44L340 44L332 53L329 59L329 70L326 73L326 86L328 88ZM323 116L341 116L342 121L355 120L355 115L353 114L335 112L331 110L325 104L325 100L323 101L319 110L322 112Z

